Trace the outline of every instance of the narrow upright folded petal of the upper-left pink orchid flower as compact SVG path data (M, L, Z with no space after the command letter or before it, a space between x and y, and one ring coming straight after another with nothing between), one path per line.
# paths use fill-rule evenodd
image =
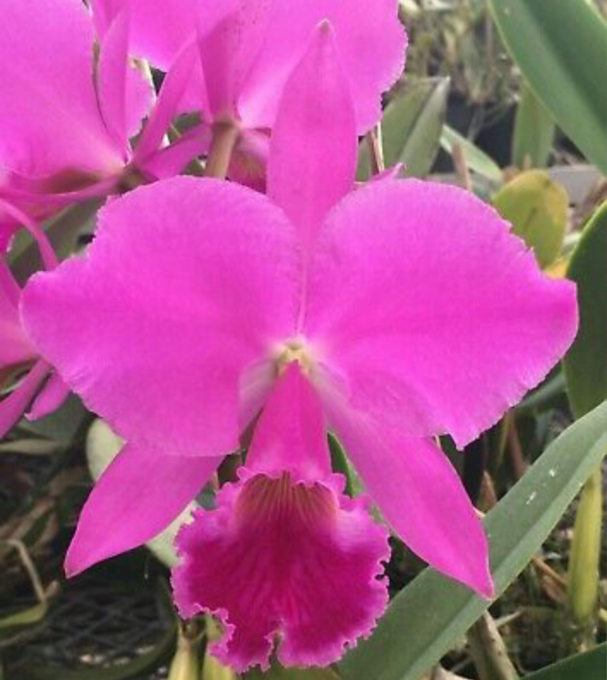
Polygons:
M139 131L154 96L152 85L129 63L130 25L127 7L103 37L97 67L101 116L116 148L122 152L124 163L131 155L128 138Z

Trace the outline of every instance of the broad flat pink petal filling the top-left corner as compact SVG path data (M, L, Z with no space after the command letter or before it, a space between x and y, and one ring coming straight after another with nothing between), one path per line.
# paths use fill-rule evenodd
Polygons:
M66 168L103 174L120 169L120 152L97 107L92 43L82 3L3 2L2 165L34 177Z

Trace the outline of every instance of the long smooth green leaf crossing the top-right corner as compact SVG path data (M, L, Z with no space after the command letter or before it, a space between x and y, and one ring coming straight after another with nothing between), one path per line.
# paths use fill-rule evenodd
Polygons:
M489 0L525 80L586 158L607 172L606 26L587 0Z

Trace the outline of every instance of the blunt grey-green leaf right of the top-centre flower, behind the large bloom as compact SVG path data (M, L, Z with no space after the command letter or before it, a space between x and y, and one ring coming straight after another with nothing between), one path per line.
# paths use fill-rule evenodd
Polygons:
M438 154L440 132L447 113L449 78L407 81L387 105L381 122L386 167L406 165L403 174L424 177ZM363 140L358 163L359 180L368 179L368 148Z

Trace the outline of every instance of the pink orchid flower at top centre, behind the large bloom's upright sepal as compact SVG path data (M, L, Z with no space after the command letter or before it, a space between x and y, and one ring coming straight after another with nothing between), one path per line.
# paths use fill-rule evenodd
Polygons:
M92 6L100 31L128 6L133 52L160 69L199 36L201 68L192 73L183 106L201 109L200 151L211 129L215 137L231 135L237 146L230 177L258 188L280 93L320 20L333 24L359 134L379 120L381 93L404 68L397 0L92 0Z

